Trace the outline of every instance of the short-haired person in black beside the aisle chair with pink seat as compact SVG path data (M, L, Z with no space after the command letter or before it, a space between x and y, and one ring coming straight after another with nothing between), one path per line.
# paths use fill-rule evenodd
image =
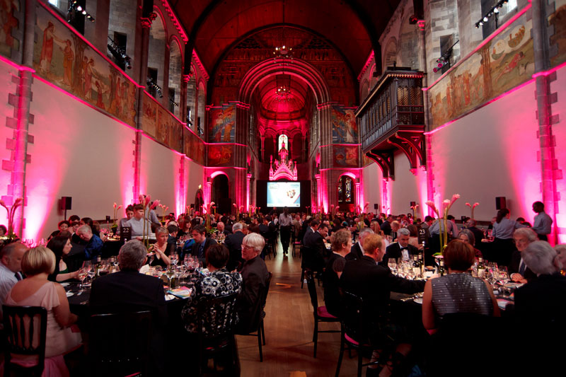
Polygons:
M323 272L324 303L328 313L340 317L340 275L346 265L345 256L352 248L352 235L346 229L340 229L330 237L330 245L333 253L328 257Z

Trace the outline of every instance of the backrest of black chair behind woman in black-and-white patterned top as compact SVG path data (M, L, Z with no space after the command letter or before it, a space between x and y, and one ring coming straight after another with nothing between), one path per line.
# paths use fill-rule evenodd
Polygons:
M226 296L202 296L197 305L197 331L201 337L224 337L236 327L236 298L233 293Z

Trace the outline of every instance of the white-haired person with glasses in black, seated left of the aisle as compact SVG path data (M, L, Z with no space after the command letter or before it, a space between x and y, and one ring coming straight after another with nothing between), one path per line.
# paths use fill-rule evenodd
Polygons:
M245 261L241 270L242 290L238 294L238 333L249 334L255 330L253 325L258 318L253 318L256 306L260 305L261 292L267 289L269 272L265 262L259 257L265 239L258 233L250 233L242 241L242 259Z

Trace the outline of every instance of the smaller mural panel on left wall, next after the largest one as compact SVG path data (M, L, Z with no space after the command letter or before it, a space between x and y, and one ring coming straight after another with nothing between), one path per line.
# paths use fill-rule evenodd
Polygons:
M144 93L141 129L146 134L175 151L182 151L181 130L183 124L157 103L151 95Z

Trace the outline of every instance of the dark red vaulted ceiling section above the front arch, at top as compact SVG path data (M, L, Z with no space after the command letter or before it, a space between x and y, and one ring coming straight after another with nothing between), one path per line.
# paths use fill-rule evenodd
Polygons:
M400 0L171 0L202 63L214 71L241 38L272 25L325 37L359 74Z

